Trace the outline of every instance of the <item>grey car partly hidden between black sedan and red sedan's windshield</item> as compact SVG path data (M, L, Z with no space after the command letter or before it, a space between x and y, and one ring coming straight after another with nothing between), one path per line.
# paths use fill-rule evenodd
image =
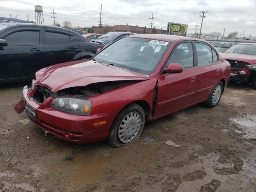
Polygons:
M132 35L132 34L136 34L136 33L130 33L130 32L108 32L107 34L104 34L102 36L100 36L98 39L96 40L92 40L92 42L100 42L100 43L104 43L105 46L107 46L108 44L114 42L115 40L118 40L122 37L128 36L128 35Z

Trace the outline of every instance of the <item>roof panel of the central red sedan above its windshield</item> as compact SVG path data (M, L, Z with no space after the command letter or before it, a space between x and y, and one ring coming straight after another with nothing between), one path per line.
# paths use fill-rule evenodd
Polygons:
M135 34L135 35L130 35L128 37L147 38L147 39L154 39L154 40L160 40L160 41L166 41L166 42L173 42L177 39L202 40L197 38L190 38L190 37L176 36L176 35L166 35L166 34Z

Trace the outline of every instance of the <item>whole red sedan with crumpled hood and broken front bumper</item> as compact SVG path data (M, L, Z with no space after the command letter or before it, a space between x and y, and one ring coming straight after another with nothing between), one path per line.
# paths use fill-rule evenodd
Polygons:
M15 110L51 134L76 143L123 146L146 120L194 104L214 107L230 79L230 64L208 42L159 34L121 38L90 60L36 72Z

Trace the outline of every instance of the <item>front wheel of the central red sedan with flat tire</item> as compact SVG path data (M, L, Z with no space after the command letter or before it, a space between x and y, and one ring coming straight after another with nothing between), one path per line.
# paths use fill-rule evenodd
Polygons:
M113 147L128 145L140 137L144 125L144 110L138 104L130 104L123 108L114 119L106 141Z

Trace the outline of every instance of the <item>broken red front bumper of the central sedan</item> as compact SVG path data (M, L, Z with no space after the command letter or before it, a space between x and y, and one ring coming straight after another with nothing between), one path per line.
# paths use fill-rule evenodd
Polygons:
M36 102L28 86L23 88L23 97L14 107L20 114L26 106L34 110L35 117L32 118L28 112L28 118L44 131L57 136L63 140L75 143L88 143L105 140L108 136L110 126L118 112L106 112L104 114L94 114L90 116L79 116L68 114L51 108L53 97L48 97L44 102ZM97 124L106 122L105 124Z

